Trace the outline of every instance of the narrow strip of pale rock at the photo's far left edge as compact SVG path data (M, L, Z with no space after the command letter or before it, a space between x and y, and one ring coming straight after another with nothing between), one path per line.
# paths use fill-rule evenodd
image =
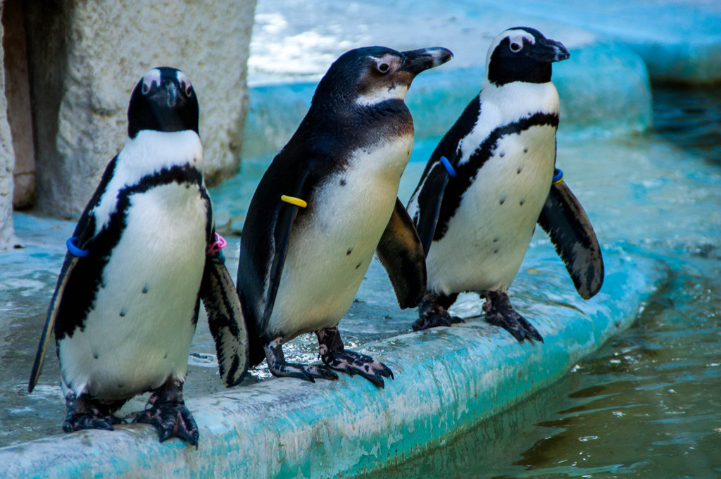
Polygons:
M2 3L0 3L2 14ZM2 25L0 25L0 38ZM4 58L4 51L0 45L0 58ZM5 90L5 71L0 69L0 92ZM0 250L8 247L14 239L12 232L12 168L14 154L12 151L12 137L10 126L7 123L7 100L0 95Z

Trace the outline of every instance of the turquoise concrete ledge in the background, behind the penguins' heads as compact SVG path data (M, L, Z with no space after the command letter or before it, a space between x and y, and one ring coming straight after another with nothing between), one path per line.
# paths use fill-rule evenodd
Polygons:
M570 60L554 65L562 131L585 129L609 135L650 128L648 73L636 53L621 43L593 43L570 52ZM483 74L478 66L420 74L406 97L416 138L443 136L478 95ZM243 159L272 159L298 128L316 86L311 82L249 89Z

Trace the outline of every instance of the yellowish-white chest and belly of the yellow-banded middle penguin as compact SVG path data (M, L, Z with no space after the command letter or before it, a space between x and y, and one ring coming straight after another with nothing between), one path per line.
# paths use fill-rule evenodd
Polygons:
M388 224L412 136L354 151L296 218L268 329L291 340L337 325Z

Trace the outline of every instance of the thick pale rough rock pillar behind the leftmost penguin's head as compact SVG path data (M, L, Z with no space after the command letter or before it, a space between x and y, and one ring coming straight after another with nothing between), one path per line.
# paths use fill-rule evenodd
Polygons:
M255 0L27 6L38 210L79 214L123 146L131 90L154 66L180 68L193 82L208 183L234 175L254 12Z

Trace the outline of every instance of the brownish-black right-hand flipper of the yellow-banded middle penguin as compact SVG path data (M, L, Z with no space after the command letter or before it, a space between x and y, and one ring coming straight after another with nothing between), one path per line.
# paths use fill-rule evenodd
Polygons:
M425 255L413 221L398 198L376 255L388 273L399 306L417 306L425 294Z

